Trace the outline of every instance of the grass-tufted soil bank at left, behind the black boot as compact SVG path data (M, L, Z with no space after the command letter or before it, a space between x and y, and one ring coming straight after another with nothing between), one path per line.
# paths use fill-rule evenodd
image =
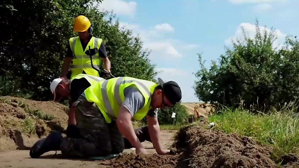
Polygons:
M68 107L59 103L0 97L0 152L29 149L51 130L67 126ZM42 115L50 115L44 120Z

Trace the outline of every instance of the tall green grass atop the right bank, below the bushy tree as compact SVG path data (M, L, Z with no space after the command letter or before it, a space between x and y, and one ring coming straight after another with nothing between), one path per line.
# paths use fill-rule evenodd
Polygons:
M271 158L280 161L288 153L299 154L299 117L293 117L293 109L269 114L251 114L242 109L224 109L222 113L209 117L215 129L226 133L238 133L252 137L261 144L273 146Z

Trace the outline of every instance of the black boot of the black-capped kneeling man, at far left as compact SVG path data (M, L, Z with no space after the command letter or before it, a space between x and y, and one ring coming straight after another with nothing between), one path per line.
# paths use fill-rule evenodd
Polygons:
M30 149L29 155L31 158L38 158L42 154L49 151L60 150L62 135L60 132L54 131L47 138L38 140Z

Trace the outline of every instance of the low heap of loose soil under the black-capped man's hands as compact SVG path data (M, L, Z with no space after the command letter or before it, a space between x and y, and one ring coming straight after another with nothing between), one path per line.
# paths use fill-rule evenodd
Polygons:
M108 167L158 167L158 168L172 168L179 166L179 155L121 155L118 158L112 159Z

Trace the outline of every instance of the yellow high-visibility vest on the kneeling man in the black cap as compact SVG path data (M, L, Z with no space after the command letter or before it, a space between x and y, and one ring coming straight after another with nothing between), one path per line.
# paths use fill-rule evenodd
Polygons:
M91 85L84 93L89 102L97 105L106 122L111 123L112 118L118 117L120 106L125 100L124 90L129 86L137 88L144 97L144 106L133 116L135 120L142 120L152 107L151 96L157 86L154 82L132 77L116 77Z

